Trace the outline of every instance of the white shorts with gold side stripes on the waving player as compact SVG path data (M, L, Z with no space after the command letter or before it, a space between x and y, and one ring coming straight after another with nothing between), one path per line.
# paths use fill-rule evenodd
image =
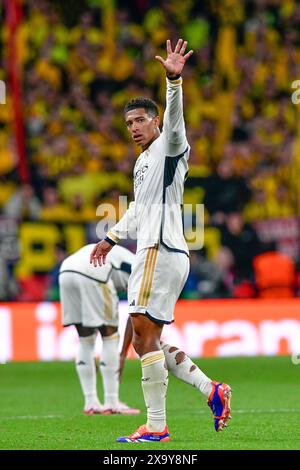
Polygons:
M135 255L128 283L130 313L143 313L158 323L174 321L174 308L184 287L190 260L162 245Z

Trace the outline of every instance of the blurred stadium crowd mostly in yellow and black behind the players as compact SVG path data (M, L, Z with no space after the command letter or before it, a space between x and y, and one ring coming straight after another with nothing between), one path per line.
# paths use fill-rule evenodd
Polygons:
M299 21L296 0L85 0L72 8L26 0L19 47L31 178L18 175L8 96L0 106L0 218L82 224L85 241L97 239L98 205L118 208L120 195L132 197L138 149L123 107L148 96L163 109L165 84L153 57L163 55L167 38L182 35L194 49L184 75L191 144L184 202L204 204L206 227L204 248L191 251L184 296L297 295L300 253L281 255L257 223L300 216L300 105L291 101L300 79ZM6 39L3 27L2 80ZM56 254L50 275L31 273L38 287L26 293L29 284L2 249L0 298L55 299L67 252L58 245Z

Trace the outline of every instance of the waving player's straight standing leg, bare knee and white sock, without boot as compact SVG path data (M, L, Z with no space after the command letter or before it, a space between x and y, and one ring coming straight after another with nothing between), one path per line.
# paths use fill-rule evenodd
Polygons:
M142 389L147 407L147 429L162 432L166 427L168 371L160 346L162 325L141 314L132 315L133 346L141 358Z

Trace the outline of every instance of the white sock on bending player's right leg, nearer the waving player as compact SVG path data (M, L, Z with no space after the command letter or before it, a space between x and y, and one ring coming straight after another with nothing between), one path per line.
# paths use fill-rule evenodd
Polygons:
M103 380L104 406L118 408L119 404L119 334L103 336L100 371Z

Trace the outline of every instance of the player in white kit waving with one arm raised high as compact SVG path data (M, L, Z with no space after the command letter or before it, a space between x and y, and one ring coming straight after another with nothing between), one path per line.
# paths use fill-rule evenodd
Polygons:
M90 256L95 267L102 265L112 246L136 226L137 253L129 278L128 301L133 346L142 365L147 423L119 438L119 442L170 440L165 403L168 371L160 337L163 325L173 321L175 303L189 272L181 217L190 153L183 118L181 73L193 53L185 53L186 47L187 42L179 39L173 51L171 41L167 40L166 60L156 56L167 75L162 132L158 108L152 100L136 98L125 106L127 129L142 149L134 167L135 200ZM231 390L227 384L209 382L205 393L218 431L229 419Z

